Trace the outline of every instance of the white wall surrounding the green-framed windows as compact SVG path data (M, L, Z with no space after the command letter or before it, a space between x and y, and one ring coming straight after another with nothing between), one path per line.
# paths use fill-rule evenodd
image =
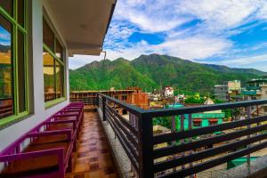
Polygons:
M33 77L31 77L31 83L33 86L30 88L30 96L32 97L32 101L30 103L31 110L33 113L30 117L18 122L17 124L11 125L0 131L0 151L4 150L9 144L17 140L22 134L25 134L34 126L38 125L45 118L50 117L53 113L57 112L59 109L63 108L69 103L69 61L68 57L66 59L66 82L67 82L67 96L68 100L63 101L50 109L44 109L44 74L43 74L43 5L45 5L41 0L32 0L28 1L28 3L32 2L31 6L31 20L32 25L30 25L30 30L32 35L32 42L29 43L31 46L31 53L28 56L31 56L29 61L31 69L29 69L29 74L33 73ZM47 7L48 8L48 7ZM49 14L49 11L48 15ZM50 17L53 21L53 17ZM53 24L55 28L56 24ZM61 31L57 31L61 36ZM64 39L61 36L62 42L65 44ZM67 51L67 50L66 50ZM66 56L68 54L66 53Z

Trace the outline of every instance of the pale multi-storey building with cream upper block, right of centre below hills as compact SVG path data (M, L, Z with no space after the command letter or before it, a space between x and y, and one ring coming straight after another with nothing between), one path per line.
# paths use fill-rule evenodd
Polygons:
M227 81L223 85L214 85L215 98L221 101L231 101L241 91L239 80Z

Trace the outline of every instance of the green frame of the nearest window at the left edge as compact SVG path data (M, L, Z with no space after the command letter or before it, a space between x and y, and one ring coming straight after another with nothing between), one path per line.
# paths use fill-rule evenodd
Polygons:
M4 117L0 119L0 129L6 127L7 125L12 125L12 123L19 122L21 119L25 118L29 114L29 98L28 98L28 1L24 1L24 24L22 27L18 18L18 1L12 0L12 14L5 11L0 5L0 15L2 15L6 20L12 24L12 91L13 91L13 115L10 117ZM19 106L19 68L18 68L18 32L24 36L24 79L25 79L25 111L20 112Z

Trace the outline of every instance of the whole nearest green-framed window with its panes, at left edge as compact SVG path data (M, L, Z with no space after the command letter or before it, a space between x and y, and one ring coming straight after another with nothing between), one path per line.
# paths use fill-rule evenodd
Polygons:
M0 125L28 114L26 2L0 1Z

